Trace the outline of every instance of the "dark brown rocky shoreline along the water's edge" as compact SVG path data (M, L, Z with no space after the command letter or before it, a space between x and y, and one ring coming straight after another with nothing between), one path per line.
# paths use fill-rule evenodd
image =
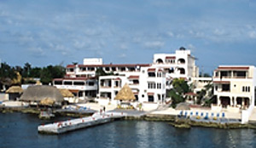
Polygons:
M13 113L21 112L28 114L40 114L40 108L30 107L0 107L1 113ZM127 111L127 110L124 110ZM92 113L76 112L76 111L62 111L61 113L57 110L53 111L57 117L89 117ZM148 122L168 122L175 128L222 128L222 129L237 129L237 128L252 128L256 129L256 122L248 122L247 124L241 124L239 122L195 122L189 118L178 118L176 115L171 114L154 114L145 113L141 116L126 116L122 120L135 120L135 121L148 121Z

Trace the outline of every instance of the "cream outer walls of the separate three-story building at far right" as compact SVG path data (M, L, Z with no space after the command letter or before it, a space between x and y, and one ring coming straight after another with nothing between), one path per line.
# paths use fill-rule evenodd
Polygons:
M224 76L220 76L220 71L229 71L229 74L227 76L225 73ZM245 75L236 76L237 71L242 71L242 73L245 73ZM255 78L254 66L219 66L214 72L213 77L214 94L217 95L218 105L221 105L221 97L229 97L230 106L239 107L242 110L249 110L252 106L254 106L254 88L256 86ZM230 90L223 90L222 86L224 83L230 84Z

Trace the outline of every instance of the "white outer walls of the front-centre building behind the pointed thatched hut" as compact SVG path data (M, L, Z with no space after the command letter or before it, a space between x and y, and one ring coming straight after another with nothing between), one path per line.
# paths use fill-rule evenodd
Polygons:
M166 76L163 71L161 71L161 77L157 75L157 72L160 69L155 69L155 77L148 77L148 69L150 67L143 67L142 71L139 75L137 75L138 84L133 84L131 83L131 80L129 80L129 77L120 77L120 76L105 76L105 77L100 77L100 82L99 82L99 94L105 92L105 93L111 93L111 98L108 98L111 103L117 104L118 101L114 100L115 97L115 92L119 92L119 90L125 85L125 83L128 83L131 90L137 94L138 102L149 102L148 97L153 96L154 100L150 101L151 103L163 103L166 99ZM157 77L159 76L159 77ZM114 79L121 79L121 87L119 88L113 88L113 81ZM112 85L111 87L108 88L103 88L101 87L101 81L104 80L110 80ZM155 83L155 88L148 88L148 83ZM101 96L99 96L101 99ZM103 98L102 98L103 99ZM105 98L106 99L106 98Z

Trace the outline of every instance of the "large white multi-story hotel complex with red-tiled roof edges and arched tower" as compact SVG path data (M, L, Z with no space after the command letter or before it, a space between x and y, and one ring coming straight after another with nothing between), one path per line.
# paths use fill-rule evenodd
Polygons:
M118 76L99 77L97 82L97 69ZM175 54L154 54L152 64L103 64L101 58L89 58L84 59L83 65L67 65L66 71L66 78L54 80L57 88L67 88L79 97L87 97L89 92L90 96L95 96L98 92L99 99L108 98L110 102L115 102L115 95L125 83L129 84L139 102L164 102L166 88L170 88L170 83L166 82L173 78L190 81L192 77L198 77L195 57L184 48ZM89 81L95 85L89 86Z

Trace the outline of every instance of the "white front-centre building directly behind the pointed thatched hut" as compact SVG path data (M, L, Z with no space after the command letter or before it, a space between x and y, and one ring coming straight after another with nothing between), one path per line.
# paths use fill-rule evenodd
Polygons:
M99 79L99 101L117 105L119 90L128 83L137 102L161 104L166 99L166 74L163 69L143 67L137 75L103 76Z

